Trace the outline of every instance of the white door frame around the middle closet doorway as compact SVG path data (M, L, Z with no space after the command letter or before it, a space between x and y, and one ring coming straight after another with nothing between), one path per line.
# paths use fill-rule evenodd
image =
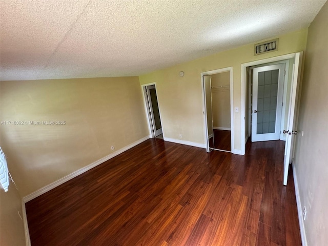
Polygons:
M216 70L211 70L207 72L202 72L200 73L200 81L201 81L201 90L202 90L202 97L203 97L203 122L204 122L204 142L206 145L206 149L209 149L208 146L208 131L207 131L207 119L206 119L206 114L205 114L205 97L204 97L204 86L203 86L203 79L202 77L204 75L213 75L217 73L223 73L223 72L229 72L230 76L230 124L231 124L231 153L236 154L236 151L234 149L234 107L233 107L233 102L234 102L234 86L233 86L233 68L228 67L228 68L221 68L221 69L216 69ZM239 153L238 153L239 154Z

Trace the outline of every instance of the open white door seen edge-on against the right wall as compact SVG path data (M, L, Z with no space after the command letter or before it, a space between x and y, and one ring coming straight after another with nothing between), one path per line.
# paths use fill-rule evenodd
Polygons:
M283 133L287 134L285 143L285 153L283 160L283 185L287 185L289 165L292 163L294 138L297 135L297 99L299 91L299 81L301 75L302 52L295 54L295 64L293 65L293 78L291 87L290 105L288 111L288 129Z

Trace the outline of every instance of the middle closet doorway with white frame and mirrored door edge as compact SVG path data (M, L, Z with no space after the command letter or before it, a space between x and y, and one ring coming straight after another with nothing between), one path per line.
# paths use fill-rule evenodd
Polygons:
M232 67L201 73L207 152L233 153Z

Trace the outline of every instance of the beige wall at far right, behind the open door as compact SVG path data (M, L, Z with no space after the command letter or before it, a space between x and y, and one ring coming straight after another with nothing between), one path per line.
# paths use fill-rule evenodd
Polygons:
M295 168L308 245L328 242L328 4L309 27L306 46ZM304 135L302 136L302 131Z

